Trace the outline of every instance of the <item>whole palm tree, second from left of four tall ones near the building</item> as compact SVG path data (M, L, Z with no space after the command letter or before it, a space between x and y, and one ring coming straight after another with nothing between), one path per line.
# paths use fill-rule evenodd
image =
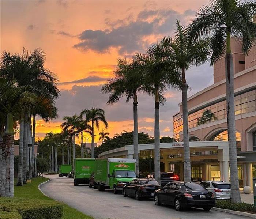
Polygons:
M167 87L180 89L182 87L180 72L165 55L162 46L151 45L146 54L136 54L135 60L144 65L144 79L150 95L155 99L155 125L154 125L154 163L155 180L160 183L160 128L159 128L159 103L165 102L163 92Z

